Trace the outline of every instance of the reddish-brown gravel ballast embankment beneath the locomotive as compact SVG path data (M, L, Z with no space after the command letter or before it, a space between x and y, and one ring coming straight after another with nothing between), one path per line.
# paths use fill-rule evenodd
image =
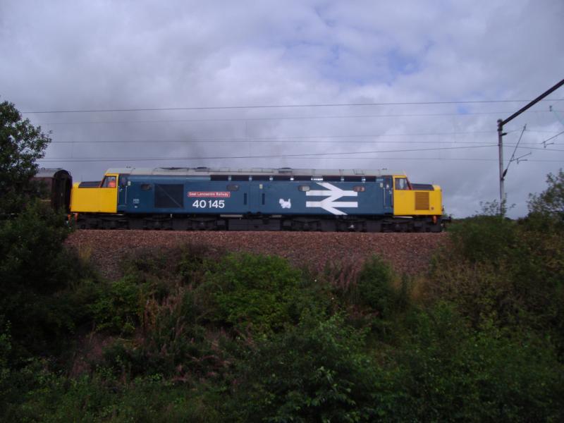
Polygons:
M104 276L120 274L120 262L136 251L168 249L185 244L228 251L256 252L286 257L298 266L323 269L326 264L357 267L372 255L388 260L399 272L427 269L446 233L320 233L320 232L179 232L92 231L71 234L67 244L89 257Z

